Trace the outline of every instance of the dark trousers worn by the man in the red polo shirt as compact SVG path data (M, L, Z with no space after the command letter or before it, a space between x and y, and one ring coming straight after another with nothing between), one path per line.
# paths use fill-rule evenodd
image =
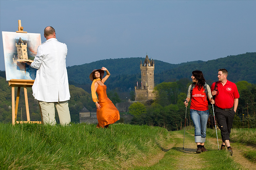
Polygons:
M217 118L218 127L220 128L222 141L224 142L225 140L230 140L229 134L233 125L235 111L233 109L225 111L216 107L215 115Z

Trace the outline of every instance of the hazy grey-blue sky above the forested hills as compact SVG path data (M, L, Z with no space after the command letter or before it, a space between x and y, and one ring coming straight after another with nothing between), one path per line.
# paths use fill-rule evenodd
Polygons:
M67 66L146 53L177 64L256 52L255 9L256 1L0 0L0 70L2 31L17 31L19 19L42 43L53 26Z

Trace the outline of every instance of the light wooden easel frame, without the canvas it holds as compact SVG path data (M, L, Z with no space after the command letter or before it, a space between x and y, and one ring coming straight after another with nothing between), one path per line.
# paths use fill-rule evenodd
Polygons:
M21 26L21 21L18 20L19 24L19 31L20 33L27 33L23 31L23 27ZM12 87L12 124L18 123L38 123L43 124L43 121L30 121L29 117L29 109L28 109L28 93L27 93L27 87L32 87L35 80L18 80L18 79L11 79L9 80L9 86ZM16 104L15 104L15 87L18 87L17 97L16 97ZM26 113L27 113L27 121L16 121L17 113L18 113L18 105L19 105L19 99L20 99L20 87L24 88L24 97L25 97L25 105L26 105ZM40 110L41 112L41 110ZM41 113L41 118L42 113Z

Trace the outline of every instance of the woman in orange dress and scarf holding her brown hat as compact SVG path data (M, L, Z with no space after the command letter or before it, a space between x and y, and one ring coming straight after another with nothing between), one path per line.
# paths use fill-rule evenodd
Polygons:
M104 71L106 71L107 75L102 78L104 76ZM109 124L113 124L120 119L119 111L107 96L107 86L104 82L109 76L110 73L105 67L98 70L95 69L90 74L90 80L92 81L92 100L97 107L97 128L108 128ZM99 99L95 92L97 92Z

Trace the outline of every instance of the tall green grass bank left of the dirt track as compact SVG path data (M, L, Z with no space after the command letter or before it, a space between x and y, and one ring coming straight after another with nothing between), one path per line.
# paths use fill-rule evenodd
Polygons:
M168 131L159 127L0 124L0 169L129 169L156 154Z

